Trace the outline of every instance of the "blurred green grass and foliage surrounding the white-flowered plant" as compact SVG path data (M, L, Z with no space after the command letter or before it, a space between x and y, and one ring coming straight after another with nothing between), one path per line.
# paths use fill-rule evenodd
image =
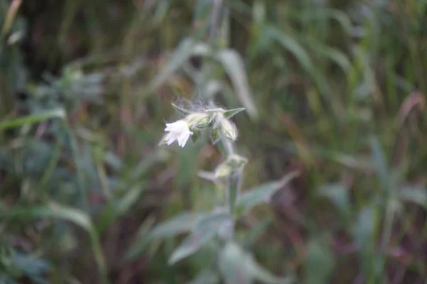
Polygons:
M301 173L238 220L258 263L295 283L425 283L427 1L223 1L201 89L214 3L0 0L1 284L190 283L213 266L210 246L170 266L177 231L147 241L215 206L198 171L216 146L157 146L171 103L199 93L246 107L245 189Z

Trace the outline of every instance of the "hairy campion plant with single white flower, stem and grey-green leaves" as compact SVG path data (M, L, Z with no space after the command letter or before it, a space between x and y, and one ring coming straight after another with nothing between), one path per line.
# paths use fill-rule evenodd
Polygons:
M241 195L243 167L248 160L235 153L233 142L237 139L238 129L230 118L244 109L210 108L189 111L174 104L172 106L184 117L166 124L167 127L164 130L168 133L164 135L159 144L172 145L176 141L179 146L184 147L193 134L202 129L210 130L211 142L215 144L221 141L226 148L225 160L213 172L199 172L199 176L214 182L218 189L218 197L221 196L223 203L218 204L218 207L212 212L185 212L169 219L164 224L159 224L149 234L146 234L138 245L132 246L128 256L130 258L137 256L144 249L146 241L150 239L162 239L189 232L169 258L168 263L174 264L193 255L211 239L219 236L223 240L221 243L223 246L218 248L217 257L220 260L218 272L226 279L226 283L237 283L238 280L242 280L242 277L244 278L242 283L248 284L254 283L255 280L270 284L292 283L292 277L278 278L258 265L251 253L247 253L238 245L233 235L236 221L242 214L258 204L269 202L275 191L282 188L299 173L289 173L283 180L266 183ZM203 175L201 175L202 173ZM208 273L208 275L209 277L216 276L216 273ZM214 277L216 280L213 281L204 278L206 270L202 271L199 276L203 277L195 283L218 283L218 278Z

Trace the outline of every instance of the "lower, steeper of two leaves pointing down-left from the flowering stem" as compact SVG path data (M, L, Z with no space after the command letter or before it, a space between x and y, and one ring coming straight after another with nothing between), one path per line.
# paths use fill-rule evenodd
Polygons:
M169 258L169 264L181 261L181 259L199 251L204 244L218 234L221 226L229 222L230 219L230 215L224 212L215 212L200 217L196 221L190 235L181 243L174 253L172 253L172 256Z

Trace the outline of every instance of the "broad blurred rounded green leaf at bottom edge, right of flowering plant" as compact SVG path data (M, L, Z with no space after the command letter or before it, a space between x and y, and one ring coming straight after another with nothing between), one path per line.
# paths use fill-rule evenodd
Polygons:
M312 239L308 245L307 262L305 263L305 283L330 283L334 267L334 256L326 239Z

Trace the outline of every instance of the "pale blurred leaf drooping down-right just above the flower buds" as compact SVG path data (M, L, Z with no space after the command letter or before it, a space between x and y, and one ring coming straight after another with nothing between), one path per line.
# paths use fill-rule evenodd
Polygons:
M221 62L228 76L230 76L237 97L248 111L248 115L252 119L257 119L258 110L249 90L248 77L246 76L245 65L241 55L236 50L224 49L216 55L216 59Z

